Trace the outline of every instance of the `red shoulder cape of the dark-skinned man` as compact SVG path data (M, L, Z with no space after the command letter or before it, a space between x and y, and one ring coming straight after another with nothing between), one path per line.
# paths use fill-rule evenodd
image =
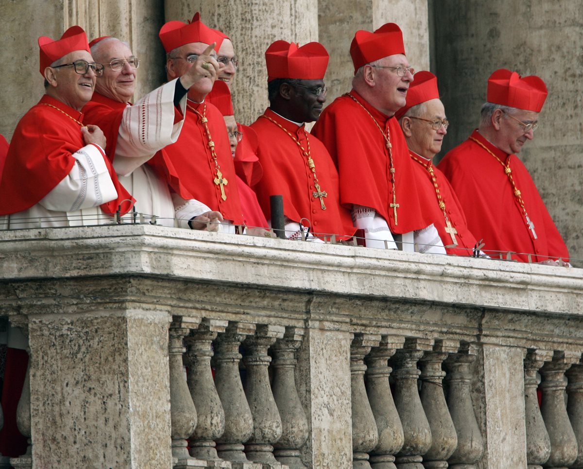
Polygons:
M259 117L251 124L257 132L259 141L258 157L264 170L264 177L255 185L259 205L266 218L271 218L270 195L283 195L283 212L290 220L300 222L305 218L310 221L312 233L322 236L337 234L338 239L348 239L356 228L352 223L350 212L340 205L338 191L338 173L332 163L328 150L314 135L298 127L270 109L265 115L282 125L303 146L308 149L314 160L316 175L322 191L328 195L324 198L325 210L319 198L313 197L314 177L308 168L307 158L289 135L273 122Z

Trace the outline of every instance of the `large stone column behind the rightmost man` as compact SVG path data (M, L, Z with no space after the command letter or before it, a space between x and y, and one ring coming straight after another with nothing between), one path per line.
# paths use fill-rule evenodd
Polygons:
M486 83L498 68L538 75L547 88L535 139L521 159L566 240L583 258L581 81L583 3L526 0L430 0L434 11L432 62L451 121L442 155L477 127Z

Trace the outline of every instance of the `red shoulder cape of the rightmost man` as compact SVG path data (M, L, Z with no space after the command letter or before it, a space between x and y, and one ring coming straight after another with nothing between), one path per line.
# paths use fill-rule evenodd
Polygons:
M471 135L501 161L510 163L512 177L521 192L526 212L535 225L537 239L526 226L526 219L504 167L478 143L468 139L441 160L439 168L449 179L468 220L468 227L483 237L484 251L498 256L498 251L513 251L515 258L533 262L563 258L568 250L554 225L545 202L531 175L516 155L507 155L487 141L479 132Z

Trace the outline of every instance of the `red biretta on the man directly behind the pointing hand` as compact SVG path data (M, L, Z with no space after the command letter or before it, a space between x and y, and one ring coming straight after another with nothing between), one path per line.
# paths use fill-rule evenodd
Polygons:
M196 12L192 21L182 23L181 21L169 21L160 28L158 34L164 50L167 53L177 47L190 43L216 43L215 50L219 50L223 42L224 34L218 34L216 30L206 26L201 21L201 13Z

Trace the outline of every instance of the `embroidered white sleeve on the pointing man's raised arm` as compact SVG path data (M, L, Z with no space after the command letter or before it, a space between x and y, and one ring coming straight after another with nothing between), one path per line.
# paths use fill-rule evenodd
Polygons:
M113 163L116 173L127 176L158 150L177 141L184 118L174 124L175 82L156 88L124 109ZM180 107L182 115L186 115L186 96Z

